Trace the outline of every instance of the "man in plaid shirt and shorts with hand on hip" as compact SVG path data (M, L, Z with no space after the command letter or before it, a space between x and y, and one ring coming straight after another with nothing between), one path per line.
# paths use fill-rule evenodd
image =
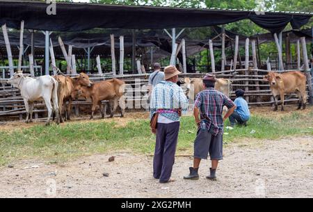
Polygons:
M226 95L214 89L215 82L214 76L204 76L205 90L195 97L193 115L198 133L194 143L193 167L189 168L190 173L184 179L199 179L200 161L207 159L209 153L211 168L207 179L215 180L218 161L223 159L223 122L234 112L236 106ZM223 106L229 109L224 117Z

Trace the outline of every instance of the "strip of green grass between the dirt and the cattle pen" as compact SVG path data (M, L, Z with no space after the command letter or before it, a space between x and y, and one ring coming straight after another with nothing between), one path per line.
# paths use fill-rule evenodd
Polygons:
M225 126L229 125L228 120ZM255 133L252 133L255 131ZM177 145L178 152L192 152L197 129L193 117L183 117ZM300 112L283 117L252 115L247 127L225 129L225 143L243 138L278 139L285 136L313 136L313 113ZM228 134L227 134L228 133ZM29 129L0 131L0 165L23 158L66 161L77 156L103 154L120 150L135 153L154 152L155 136L148 120L129 122L118 127L115 122L85 122L65 125L36 125Z

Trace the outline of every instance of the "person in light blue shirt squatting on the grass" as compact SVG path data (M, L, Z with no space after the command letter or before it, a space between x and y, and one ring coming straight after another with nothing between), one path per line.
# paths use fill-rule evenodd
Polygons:
M236 99L234 104L236 105L236 110L232 115L230 115L230 126L234 127L236 123L247 125L247 122L250 118L250 111L248 108L248 103L245 99L243 99L243 95L245 92L241 89L237 89L235 91Z

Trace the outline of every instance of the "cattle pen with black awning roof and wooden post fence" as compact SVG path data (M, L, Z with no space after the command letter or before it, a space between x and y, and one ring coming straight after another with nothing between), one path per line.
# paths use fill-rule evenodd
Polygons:
M291 67L291 59L287 59L284 65L282 61L282 30L284 27L290 23L294 29L299 29L300 26L306 24L312 17L312 13L271 13L266 12L264 15L258 15L254 11L248 10L219 10L215 8L211 9L191 9L191 8L166 8L166 7L146 7L146 6L111 6L102 4L86 4L86 3L57 3L56 4L56 16L47 15L45 13L47 4L35 1L0 1L1 11L0 13L0 24L3 31L3 41L5 43L6 52L8 54L8 67L2 67L2 79L0 88L0 117L1 119L6 116L19 116L22 119L22 115L25 113L24 102L22 97L20 97L19 90L16 88L11 88L6 84L7 78L12 76L13 72L16 70L29 70L32 76L35 76L35 71L40 74L56 74L56 58L54 52L56 51L56 46L50 40L52 31L83 31L92 28L127 28L127 29L164 29L168 36L170 37L172 46L170 54L170 64L176 65L177 58L179 58L179 67L181 68L183 74L181 74L181 79L184 76L188 77L201 77L205 73L189 73L186 64L186 42L184 39L179 40L179 36L184 32L185 27L201 27L201 26L216 26L223 25L234 21L239 21L241 19L250 19L255 22L258 26L266 28L273 34L275 44L278 49L278 62L275 67L277 72L287 72L290 70L284 70L284 67ZM14 9L13 9L14 8ZM84 13L79 13L77 11L83 10ZM17 12L18 11L18 12ZM66 11L66 13L63 13ZM127 11L127 13L125 13ZM191 14L190 12L193 11ZM79 13L81 16L79 22L73 22L73 18ZM151 14L154 15L151 15ZM31 16L29 15L31 14ZM127 15L125 15L127 14ZM168 14L175 15L177 19L172 19ZM30 17L37 17L34 21ZM162 17L162 20L159 20ZM150 19L150 22L146 20ZM68 20L68 21L67 21ZM143 21L144 20L144 21ZM19 60L17 67L13 64L13 56L10 47L10 40L6 27L17 28L20 30L19 36ZM176 28L183 28L179 33L176 32ZM23 49L23 31L25 29L29 30L40 30L45 35L45 65L42 70L40 65L34 65L34 44L33 44L33 33L31 34L32 43L27 45L31 54L29 54L29 64L22 66L22 56L24 56L27 48ZM172 33L169 33L166 28L172 28ZM302 36L302 35L301 35ZM230 97L234 98L234 90L241 88L246 91L246 100L250 106L257 105L271 105L274 103L273 97L271 95L271 90L266 81L263 80L264 74L266 72L273 70L270 63L270 58L266 63L266 70L262 70L259 67L259 56L257 56L258 49L258 39L246 38L244 40L246 55L245 61L241 61L241 56L239 55L239 36L236 35L234 38L234 58L230 63L229 70L226 70L226 58L225 58L225 29L222 27L221 33L216 36L221 38L222 42L222 65L220 71L216 70L216 63L214 58L214 39L209 40L207 46L210 52L211 58L211 72L215 74L218 78L231 79L231 92ZM226 36L227 37L227 36ZM141 66L141 61L136 60L136 47L134 46L134 36L132 38L132 47L128 49L131 51L131 73L124 70L125 61L125 38L120 35L119 43L115 44L114 35L110 35L109 42L109 54L111 57L111 70L109 73L104 73L102 71L101 62L99 56L97 56L97 74L91 74L91 81L101 81L110 78L118 78L125 80L125 82L133 88L129 92L133 97L128 97L127 101L131 102L134 108L142 108L145 105L141 104L142 101L147 99L147 89L142 88L143 85L147 84L147 78L149 76L145 69ZM300 37L296 40L297 43L297 70L300 70L300 49L303 55L303 72L307 76L307 93L308 101L312 104L312 76L310 74L309 60L307 58L306 42L307 38L305 36ZM309 38L309 41L312 42ZM2 42L2 41L1 41ZM0 42L0 43L1 43ZM99 41L97 41L99 43ZM75 62L75 50L71 44L68 44L68 51L65 49L65 44L61 37L58 37L58 44L61 47L63 60L66 61L67 70L66 74L70 76L76 76L76 74L81 71L77 70ZM252 52L249 53L249 45L251 44ZM116 60L115 47L119 47L119 59ZM88 57L88 70L90 70L90 52L93 51L94 47L88 46L85 48ZM290 54L290 49L288 50ZM151 61L153 60L152 50L151 50ZM250 61L250 56L252 60ZM24 56L24 62L26 57ZM50 60L51 58L51 60ZM289 58L289 57L287 57ZM238 61L239 60L239 61ZM244 63L243 63L244 62ZM119 63L119 64L117 64ZM239 65L237 65L239 63ZM51 64L51 66L50 66ZM243 66L244 65L244 66ZM118 68L117 68L117 67ZM240 67L240 68L238 68ZM292 68L292 67L291 67ZM38 72L38 70L40 70ZM134 74L137 73L137 74ZM40 75L39 74L39 75ZM37 74L38 75L38 74ZM138 79L141 81L138 83ZM285 102L294 103L298 101L294 95L290 95ZM104 110L106 110L106 101ZM138 106L138 104L141 104ZM91 102L87 101L74 101L74 111L76 115L80 114L80 106L91 105ZM40 113L45 112L44 104L38 102L35 105L36 110L34 110L35 118L40 117Z

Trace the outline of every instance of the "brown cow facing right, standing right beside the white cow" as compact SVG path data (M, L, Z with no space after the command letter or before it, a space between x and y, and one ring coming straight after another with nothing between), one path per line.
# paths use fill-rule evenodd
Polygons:
M72 108L72 92L74 88L78 85L91 86L93 83L89 80L89 76L85 73L79 74L79 76L71 78L70 76L56 75L54 79L58 81L58 107L60 120L63 122L62 112L63 103L65 106L65 120L70 120L70 112ZM68 106L66 108L66 101L68 101Z

